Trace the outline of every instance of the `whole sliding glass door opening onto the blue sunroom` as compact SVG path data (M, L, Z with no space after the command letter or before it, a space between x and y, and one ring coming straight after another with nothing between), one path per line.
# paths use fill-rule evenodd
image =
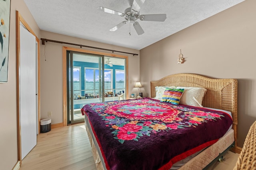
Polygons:
M68 123L84 121L85 104L125 99L126 59L68 51Z

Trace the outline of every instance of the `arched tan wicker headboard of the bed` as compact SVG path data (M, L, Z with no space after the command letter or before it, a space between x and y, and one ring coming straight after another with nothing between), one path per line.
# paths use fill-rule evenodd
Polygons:
M237 80L215 79L198 74L173 74L150 82L151 97L156 96L156 86L203 87L207 92L202 101L204 107L231 111L234 137L236 141L237 125ZM235 147L236 148L236 147Z

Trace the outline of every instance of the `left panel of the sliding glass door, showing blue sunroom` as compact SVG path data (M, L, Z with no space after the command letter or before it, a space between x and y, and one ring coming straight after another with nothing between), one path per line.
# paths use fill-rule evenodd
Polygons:
M84 121L81 108L85 104L103 101L100 98L103 88L101 78L102 59L102 56L70 51L70 70L73 70L69 73L70 80L72 80L69 81L68 117L70 123ZM86 69L86 67L91 69ZM86 75L88 75L88 79L85 78Z

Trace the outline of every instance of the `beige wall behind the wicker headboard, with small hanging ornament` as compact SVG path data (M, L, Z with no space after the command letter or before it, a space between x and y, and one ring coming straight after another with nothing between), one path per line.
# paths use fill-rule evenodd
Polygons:
M176 73L238 79L238 146L256 120L256 1L246 0L140 50L140 80ZM186 62L177 64L182 49Z

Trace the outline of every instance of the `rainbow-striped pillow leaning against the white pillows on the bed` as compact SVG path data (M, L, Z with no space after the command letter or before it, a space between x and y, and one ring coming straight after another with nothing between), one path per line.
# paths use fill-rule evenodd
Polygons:
M166 88L162 96L161 102L168 102L178 105L184 88Z

